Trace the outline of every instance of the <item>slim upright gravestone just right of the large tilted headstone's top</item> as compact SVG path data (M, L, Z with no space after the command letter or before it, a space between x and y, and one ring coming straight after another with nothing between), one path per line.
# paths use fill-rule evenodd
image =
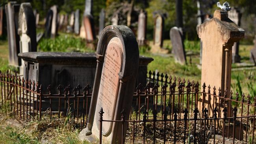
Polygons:
M145 45L147 30L147 13L141 9L138 20L137 40L139 45Z

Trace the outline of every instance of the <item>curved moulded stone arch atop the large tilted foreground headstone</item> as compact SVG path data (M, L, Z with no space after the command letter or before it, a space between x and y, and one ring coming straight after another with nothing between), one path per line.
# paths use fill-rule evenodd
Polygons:
M139 47L136 37L128 26L107 26L102 31L96 51L99 61L104 60L104 54L109 41L118 37L122 43L122 68L119 73L120 79L126 81L136 73L139 63Z

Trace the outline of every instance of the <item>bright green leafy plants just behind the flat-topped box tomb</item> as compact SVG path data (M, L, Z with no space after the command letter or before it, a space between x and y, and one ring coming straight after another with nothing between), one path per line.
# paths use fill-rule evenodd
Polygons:
M43 52L92 52L85 47L85 42L80 38L69 35L60 35L56 39L42 39L38 48Z

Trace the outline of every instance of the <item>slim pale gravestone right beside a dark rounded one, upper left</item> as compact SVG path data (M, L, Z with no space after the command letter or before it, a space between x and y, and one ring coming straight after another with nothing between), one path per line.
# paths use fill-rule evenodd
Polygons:
M58 35L58 6L54 5L51 7L52 10L52 30L51 38L55 38Z

